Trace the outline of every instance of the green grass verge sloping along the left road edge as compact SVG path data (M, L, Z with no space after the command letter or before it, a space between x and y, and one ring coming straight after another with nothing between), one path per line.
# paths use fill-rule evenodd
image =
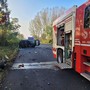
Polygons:
M13 61L15 60L17 54L18 54L18 47L17 46L0 46L0 60L5 55L9 57L9 60L7 62L7 66L4 70L0 70L0 83L2 82L3 78L5 77L9 67L12 65Z

